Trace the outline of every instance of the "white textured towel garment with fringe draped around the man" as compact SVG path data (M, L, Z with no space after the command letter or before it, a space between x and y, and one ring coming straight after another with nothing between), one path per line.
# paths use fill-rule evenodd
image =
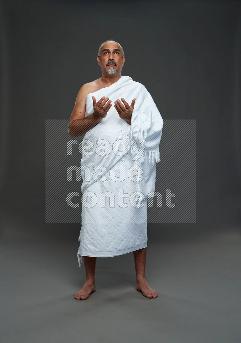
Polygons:
M82 141L79 267L82 256L113 257L147 247L147 198L155 190L163 127L151 95L129 76L88 94L85 117L94 111L92 96L96 101L109 97L112 107ZM114 107L115 100L121 98L129 105L136 98L131 125ZM133 166L141 167L143 174Z

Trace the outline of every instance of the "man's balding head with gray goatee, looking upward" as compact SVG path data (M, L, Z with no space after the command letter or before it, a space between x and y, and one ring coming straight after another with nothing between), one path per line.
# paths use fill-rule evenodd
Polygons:
M122 57L121 47L115 42L106 42L102 48L97 61L101 67L102 75L121 75L122 67L125 63L125 56Z

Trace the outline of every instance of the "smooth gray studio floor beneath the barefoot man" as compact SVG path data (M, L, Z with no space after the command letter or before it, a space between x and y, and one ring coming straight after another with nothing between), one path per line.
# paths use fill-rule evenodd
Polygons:
M239 227L149 228L146 276L158 298L135 290L128 253L97 259L97 290L78 301L78 225L26 222L2 218L2 342L241 342Z

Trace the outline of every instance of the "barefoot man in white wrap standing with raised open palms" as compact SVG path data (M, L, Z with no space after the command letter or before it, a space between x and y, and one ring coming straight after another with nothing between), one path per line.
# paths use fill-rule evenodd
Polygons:
M102 43L97 62L102 77L80 88L68 126L71 138L84 134L81 159L81 166L84 169L84 174L81 169L82 227L77 256L79 266L80 257L81 261L82 256L84 258L86 281L74 294L74 298L84 300L95 292L96 257L113 257L130 251L134 253L136 290L141 291L147 298L156 298L158 293L149 286L145 277L147 198L152 197L153 192L140 198L138 204L134 198L136 194L138 197L140 194L142 196L143 193L147 194L148 189L154 191L156 162L160 161L159 142L163 120L146 88L129 76L121 75L125 55L119 43L114 40ZM135 103L138 104L137 110ZM132 149L131 147L129 149L128 139ZM84 145L85 143L88 145ZM118 149L118 144L121 143L123 143L122 151ZM94 144L97 144L95 155ZM102 145L98 146L98 144ZM124 153L126 146L127 150ZM147 150L144 152L145 148ZM140 150L141 158L131 158L133 155L137 156ZM123 176L124 166L124 169L128 170L128 177ZM141 166L144 167L143 177L140 177ZM119 169L119 177L116 176L116 169L113 168ZM85 172L90 169L91 171L101 169L104 171L105 178L101 175L103 178L101 180L100 175L96 176L93 172L89 182L85 181ZM139 178L136 178L137 174L134 174L135 177L131 174L130 171L133 170L139 171ZM109 179L106 171L110 173ZM137 180L141 181L134 182ZM131 205L123 200L123 198L127 200L127 191L132 191ZM110 206L105 206L103 194L109 197ZM95 200L94 205L98 201L100 204L92 206L92 202L90 204L87 201L88 195L91 201Z

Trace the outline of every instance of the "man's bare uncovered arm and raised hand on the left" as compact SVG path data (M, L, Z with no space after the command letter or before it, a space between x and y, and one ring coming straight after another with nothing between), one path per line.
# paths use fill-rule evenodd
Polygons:
M87 85L83 85L77 94L74 109L72 111L68 124L69 135L71 138L85 134L87 131L97 125L104 118L111 107L111 100L101 98L97 103L92 96L94 113L85 118L85 98L88 94Z

